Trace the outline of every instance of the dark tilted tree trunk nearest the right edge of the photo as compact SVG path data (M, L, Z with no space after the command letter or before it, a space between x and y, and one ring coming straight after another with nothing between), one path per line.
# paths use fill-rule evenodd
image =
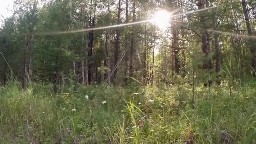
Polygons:
M245 16L245 24L247 28L248 35L253 35L253 32L251 30L251 25L250 25L250 19L249 19L249 13L248 13L248 8L246 5L246 1L242 0L242 6L243 6L243 13ZM255 43L253 39L249 40L249 46L250 46L250 52L251 52L251 67L256 70L256 53L255 53ZM255 74L254 74L255 75Z

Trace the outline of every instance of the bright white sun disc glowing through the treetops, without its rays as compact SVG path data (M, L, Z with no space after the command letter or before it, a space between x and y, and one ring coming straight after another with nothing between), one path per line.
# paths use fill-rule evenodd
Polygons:
M171 13L166 10L157 11L152 19L154 23L161 30L166 30L170 25L169 21L171 18Z

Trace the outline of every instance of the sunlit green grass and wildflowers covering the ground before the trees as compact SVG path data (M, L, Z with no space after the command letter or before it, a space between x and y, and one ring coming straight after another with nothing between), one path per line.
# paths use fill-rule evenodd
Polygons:
M13 86L14 85L14 86ZM1 144L255 144L255 83L0 88ZM231 90L231 91L230 91Z

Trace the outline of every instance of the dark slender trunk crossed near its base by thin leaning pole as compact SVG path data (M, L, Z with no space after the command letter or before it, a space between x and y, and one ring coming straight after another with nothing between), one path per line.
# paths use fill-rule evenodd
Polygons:
M121 13L121 0L118 0L118 12L117 12L117 24L120 24L120 13ZM114 50L114 64L117 66L118 63L118 56L119 56L119 49L120 49L120 29L119 27L116 28L116 37L115 37L115 50ZM112 75L112 81L115 80L117 74L117 69L115 69L114 74Z

